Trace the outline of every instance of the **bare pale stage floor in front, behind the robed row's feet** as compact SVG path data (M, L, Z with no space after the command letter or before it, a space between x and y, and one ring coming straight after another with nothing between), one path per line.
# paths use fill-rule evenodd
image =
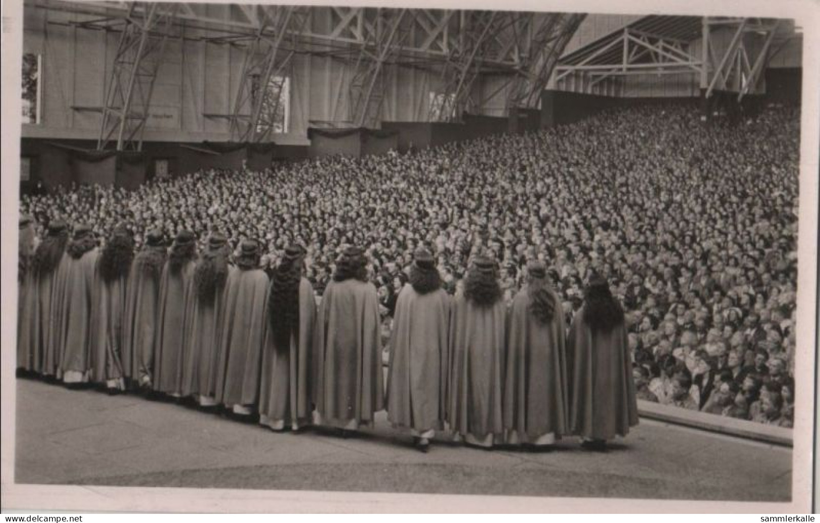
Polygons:
M393 430L274 433L134 394L17 380L16 482L788 501L791 449L641 420L608 453L491 452Z

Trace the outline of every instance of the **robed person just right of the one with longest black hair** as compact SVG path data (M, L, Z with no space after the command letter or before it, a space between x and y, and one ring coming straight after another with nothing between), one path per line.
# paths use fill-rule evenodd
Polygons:
M314 334L317 425L358 430L384 408L379 298L367 261L348 247L321 298Z

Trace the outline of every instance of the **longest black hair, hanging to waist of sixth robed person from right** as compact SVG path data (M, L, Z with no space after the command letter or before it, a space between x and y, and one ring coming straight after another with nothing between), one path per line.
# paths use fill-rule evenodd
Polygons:
M285 255L276 267L271 281L271 294L267 302L268 321L279 351L289 350L290 336L298 335L299 284L302 282L303 260L301 253Z

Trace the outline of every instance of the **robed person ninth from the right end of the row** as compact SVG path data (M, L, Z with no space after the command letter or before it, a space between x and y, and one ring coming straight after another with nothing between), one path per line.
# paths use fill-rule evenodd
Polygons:
M159 316L154 343L152 385L158 393L182 396L185 348L185 305L194 281L197 237L189 230L176 234L159 285Z

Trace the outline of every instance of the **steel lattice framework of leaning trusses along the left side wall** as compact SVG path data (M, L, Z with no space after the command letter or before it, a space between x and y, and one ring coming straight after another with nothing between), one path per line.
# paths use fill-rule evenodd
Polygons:
M537 107L540 91L583 15L518 11L304 7L248 4L27 0L36 7L84 16L75 25L118 31L121 48L107 85L99 148L139 149L166 39L231 45L244 52L227 114L230 139L262 142L281 131L278 93L295 82L297 55L347 64L334 84L333 126L378 126L389 66L426 70L428 117L458 121L481 112L479 77L502 78L504 109ZM321 12L322 22L316 14ZM173 33L172 33L173 32ZM438 80L437 82L435 80ZM302 89L303 86L294 86ZM500 91L499 91L500 92ZM339 103L347 95L348 104ZM504 99L506 97L506 101ZM337 99L338 98L338 99ZM336 114L335 107L344 107ZM421 114L421 110L420 113Z

